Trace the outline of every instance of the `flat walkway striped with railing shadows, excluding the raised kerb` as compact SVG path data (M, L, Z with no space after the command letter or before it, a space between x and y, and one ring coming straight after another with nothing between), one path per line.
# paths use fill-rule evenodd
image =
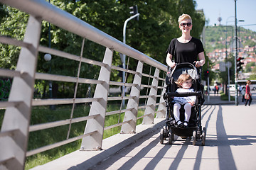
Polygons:
M255 92L253 92L255 98ZM256 169L256 104L203 106L206 146L175 137L173 145L159 143L159 131L125 147L92 169ZM167 142L167 141L165 141Z

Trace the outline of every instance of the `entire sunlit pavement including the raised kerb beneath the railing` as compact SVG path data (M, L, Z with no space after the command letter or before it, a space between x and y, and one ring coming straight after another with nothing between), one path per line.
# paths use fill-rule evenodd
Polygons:
M240 101L241 97L238 98ZM174 145L160 145L164 119L137 126L136 134L117 134L103 140L102 151L76 151L33 170L84 169L256 169L255 99L252 106L206 97L202 125L206 146L176 137ZM245 115L241 117L241 114ZM246 120L241 120L246 119ZM247 119L249 118L249 119ZM248 122L247 122L248 121ZM242 124L241 124L242 123ZM166 141L165 141L166 142ZM200 144L199 144L200 145ZM188 166L190 165L190 166Z

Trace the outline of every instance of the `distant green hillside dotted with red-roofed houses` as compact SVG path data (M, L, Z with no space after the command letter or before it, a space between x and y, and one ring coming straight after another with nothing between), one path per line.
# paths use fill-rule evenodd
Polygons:
M219 63L225 61L226 55L234 66L233 60L230 59L235 53L234 27L208 26L206 27L205 35L205 50L206 55L208 55L213 63L212 70L219 69ZM238 28L238 40L238 57L242 57L242 62L244 63L242 64L242 72L239 74L239 79L247 79L252 74L256 74L256 32L245 28ZM230 70L234 72L233 68Z

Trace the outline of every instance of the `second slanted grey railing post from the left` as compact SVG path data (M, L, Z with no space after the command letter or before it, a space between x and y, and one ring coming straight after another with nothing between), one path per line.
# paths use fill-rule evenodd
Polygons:
M103 63L98 80L104 81L103 84L97 84L94 98L100 98L99 101L93 101L89 115L98 115L95 119L87 120L85 134L97 130L90 136L82 138L80 150L98 150L102 148L102 138L105 124L105 114L107 110L107 96L110 89L110 73L112 65L113 50L106 48Z

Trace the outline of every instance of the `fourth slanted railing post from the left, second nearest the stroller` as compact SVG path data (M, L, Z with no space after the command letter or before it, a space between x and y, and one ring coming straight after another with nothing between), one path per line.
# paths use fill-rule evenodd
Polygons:
M156 95L157 95L157 86L158 86L158 81L159 81L159 69L156 68L154 72L154 79L151 84L151 89L149 91L149 99L146 102L146 110L144 115L148 115L143 118L142 124L154 124L154 113L156 109Z

